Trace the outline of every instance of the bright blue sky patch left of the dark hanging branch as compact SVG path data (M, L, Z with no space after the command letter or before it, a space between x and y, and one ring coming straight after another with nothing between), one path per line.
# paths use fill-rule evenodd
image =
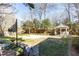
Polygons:
M18 19L18 22L23 21L25 17L29 18L27 13L29 12L29 9L25 7L21 3L17 3L13 5L16 8L16 18ZM25 15L26 14L26 15Z

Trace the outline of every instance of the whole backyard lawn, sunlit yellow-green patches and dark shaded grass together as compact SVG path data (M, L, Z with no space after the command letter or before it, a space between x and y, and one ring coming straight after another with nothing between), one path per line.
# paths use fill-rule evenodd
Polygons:
M2 37L0 40L6 41L6 43L11 43L11 39L14 37ZM39 46L39 55L40 56L67 56L68 55L68 39L69 38L44 38L44 39L22 39L18 38L18 42L24 43L28 46ZM79 37L73 37L72 39L72 46L77 50L79 53ZM13 49L16 51L17 55L23 53L23 49L21 47L10 45L8 46L9 49ZM7 48L7 49L8 49Z

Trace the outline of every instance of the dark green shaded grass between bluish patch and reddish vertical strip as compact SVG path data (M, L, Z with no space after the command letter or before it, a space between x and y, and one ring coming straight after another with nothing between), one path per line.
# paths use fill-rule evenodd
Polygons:
M41 56L66 56L67 44L57 39L47 39L39 45L39 54Z

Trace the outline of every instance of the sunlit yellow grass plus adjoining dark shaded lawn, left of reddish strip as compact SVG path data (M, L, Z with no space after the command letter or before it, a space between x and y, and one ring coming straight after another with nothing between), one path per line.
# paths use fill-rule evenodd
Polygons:
M28 46L39 46L40 56L67 56L67 38L26 39L22 41Z

